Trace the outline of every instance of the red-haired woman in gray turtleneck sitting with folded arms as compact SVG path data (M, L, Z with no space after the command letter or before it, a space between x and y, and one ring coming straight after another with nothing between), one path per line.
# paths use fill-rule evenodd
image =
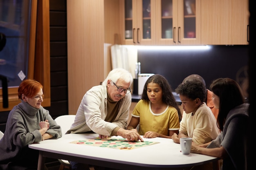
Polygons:
M38 151L29 144L62 136L49 111L41 106L43 86L25 79L18 88L21 103L10 111L3 138L0 140L0 169L36 170Z

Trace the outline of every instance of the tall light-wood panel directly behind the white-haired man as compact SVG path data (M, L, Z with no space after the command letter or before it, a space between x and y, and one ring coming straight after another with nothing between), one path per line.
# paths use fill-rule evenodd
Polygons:
M104 0L67 1L69 114L86 91L105 79Z

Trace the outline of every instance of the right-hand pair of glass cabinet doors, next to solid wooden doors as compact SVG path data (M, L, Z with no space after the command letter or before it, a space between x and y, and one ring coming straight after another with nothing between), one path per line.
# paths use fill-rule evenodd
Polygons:
M200 0L157 0L157 44L201 43Z

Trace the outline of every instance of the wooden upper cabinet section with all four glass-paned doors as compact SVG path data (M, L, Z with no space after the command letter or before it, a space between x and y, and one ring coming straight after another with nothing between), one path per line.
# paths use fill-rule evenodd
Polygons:
M120 0L121 43L200 44L200 0Z

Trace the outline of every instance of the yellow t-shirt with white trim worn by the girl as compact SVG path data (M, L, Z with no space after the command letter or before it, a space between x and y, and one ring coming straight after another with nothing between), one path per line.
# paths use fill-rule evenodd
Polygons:
M178 111L172 106L167 106L163 113L155 114L150 102L141 99L132 111L132 116L139 117L139 135L153 131L168 136L168 130L180 129Z

